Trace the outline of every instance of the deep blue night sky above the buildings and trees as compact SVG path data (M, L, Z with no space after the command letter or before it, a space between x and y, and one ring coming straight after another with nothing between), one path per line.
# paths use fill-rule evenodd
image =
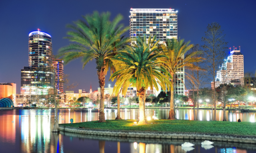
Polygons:
M130 8L172 8L178 10L178 37L202 44L208 24L218 22L228 41L227 47L241 46L244 72L256 69L256 1L255 0L0 0L0 82L15 82L20 94L20 69L28 66L28 34L41 29L52 36L54 55L70 42L66 24L93 11L111 12L111 18L122 14L129 26ZM126 35L129 36L129 33ZM228 53L228 50L227 50ZM95 61L84 69L80 59L64 66L70 82L78 89L98 89ZM114 82L108 82L106 86ZM210 84L208 84L210 86Z

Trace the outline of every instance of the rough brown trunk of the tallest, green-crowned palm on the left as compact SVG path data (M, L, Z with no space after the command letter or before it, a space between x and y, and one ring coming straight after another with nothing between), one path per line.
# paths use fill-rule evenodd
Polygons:
M104 87L105 87L105 74L106 74L106 65L101 68L98 68L98 78L100 83L100 115L99 115L99 122L106 122L105 114L104 114Z

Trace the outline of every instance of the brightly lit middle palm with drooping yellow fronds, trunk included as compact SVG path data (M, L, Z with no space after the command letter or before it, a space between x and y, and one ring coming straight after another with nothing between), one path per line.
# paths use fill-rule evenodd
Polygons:
M159 41L154 42L156 37L146 42L146 36L143 38L138 37L136 43L133 45L134 49L131 48L128 51L120 52L115 56L115 60L120 63L118 71L113 73L110 79L117 78L113 92L118 94L122 88L122 94L125 95L129 86L136 86L137 95L139 97L139 108L140 108L140 121L138 125L146 124L145 116L145 90L153 86L158 90L158 84L162 88L166 88L166 85L171 86L171 83L166 76L170 76L170 73L162 67L160 64L164 63L161 59L166 57L157 53L157 44ZM151 37L148 38L151 40Z

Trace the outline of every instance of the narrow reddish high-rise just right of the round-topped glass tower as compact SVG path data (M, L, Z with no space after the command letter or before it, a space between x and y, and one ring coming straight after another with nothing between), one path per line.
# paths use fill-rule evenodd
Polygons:
M61 94L63 93L64 62L62 59L52 59L52 63L55 69L55 88L58 89L58 94Z

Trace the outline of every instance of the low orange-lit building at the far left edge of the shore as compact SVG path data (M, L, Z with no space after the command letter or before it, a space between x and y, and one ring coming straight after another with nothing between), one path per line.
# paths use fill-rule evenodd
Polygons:
M16 83L0 83L0 99L12 96L15 105L16 99Z

